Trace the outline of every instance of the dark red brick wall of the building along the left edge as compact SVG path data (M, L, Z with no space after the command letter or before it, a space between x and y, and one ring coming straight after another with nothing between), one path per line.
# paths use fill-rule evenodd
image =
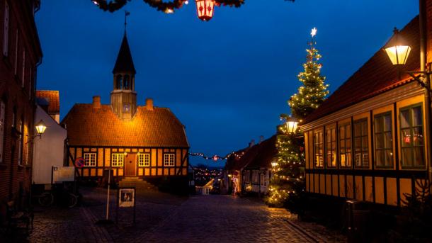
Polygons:
M5 9L8 6L8 53L4 55ZM0 0L0 99L5 103L4 160L0 164L0 215L4 214L7 200L21 198L30 190L32 143L25 145L34 132L36 64L42 52L35 29L33 1ZM16 126L13 128L13 114ZM18 165L18 138L16 132L22 120L22 163ZM17 200L19 205L20 200Z

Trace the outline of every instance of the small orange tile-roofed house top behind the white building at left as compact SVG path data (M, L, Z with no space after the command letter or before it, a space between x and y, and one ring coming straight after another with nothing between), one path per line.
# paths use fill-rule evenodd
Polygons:
M57 90L37 90L36 103L57 123L60 123L60 97ZM36 121L38 122L38 120Z

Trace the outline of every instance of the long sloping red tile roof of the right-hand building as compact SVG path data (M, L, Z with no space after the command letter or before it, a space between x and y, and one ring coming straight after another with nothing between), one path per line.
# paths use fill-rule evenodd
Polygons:
M411 54L403 70L419 70L419 16L409 22L400 31L400 35L411 46ZM409 81L412 81L412 79L408 74L402 74L401 79L399 79L397 68L392 65L385 51L380 49L368 62L363 64L363 67L360 67L353 76L345 81L339 89L334 91L317 110L308 115L302 124L312 122L335 111L340 111L377 94L407 84Z

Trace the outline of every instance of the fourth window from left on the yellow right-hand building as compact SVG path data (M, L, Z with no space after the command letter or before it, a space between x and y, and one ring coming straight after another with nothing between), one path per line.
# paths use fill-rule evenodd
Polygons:
M368 119L354 122L354 151L356 167L369 166L369 135Z

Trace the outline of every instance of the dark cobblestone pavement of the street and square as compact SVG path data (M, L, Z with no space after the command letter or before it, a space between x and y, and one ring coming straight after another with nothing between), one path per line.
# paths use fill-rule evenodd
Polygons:
M28 242L343 242L318 225L297 222L286 210L268 208L253 198L138 193L136 223L121 208L118 223L100 226L106 190L84 188L81 207L35 212ZM115 194L110 218L115 221ZM0 240L1 242L1 240ZM14 241L16 242L16 241Z

